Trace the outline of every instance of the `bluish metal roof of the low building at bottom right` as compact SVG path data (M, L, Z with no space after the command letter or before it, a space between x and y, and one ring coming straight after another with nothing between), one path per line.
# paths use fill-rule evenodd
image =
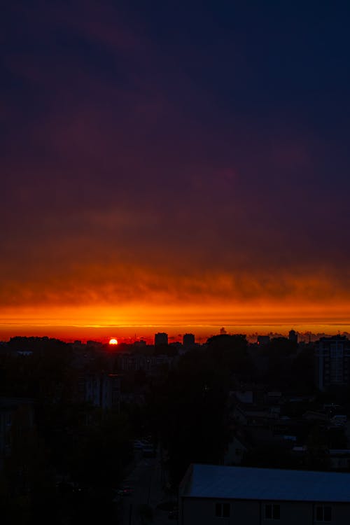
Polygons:
M350 473L191 465L181 496L350 503Z

